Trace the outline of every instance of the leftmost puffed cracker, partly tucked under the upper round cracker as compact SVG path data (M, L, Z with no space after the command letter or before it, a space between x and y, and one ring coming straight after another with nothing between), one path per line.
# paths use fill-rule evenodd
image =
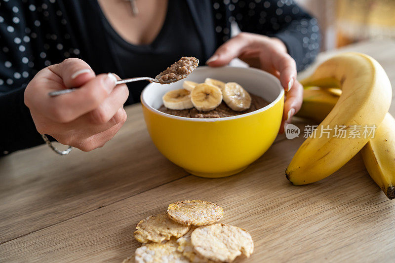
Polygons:
M183 236L189 231L190 226L178 224L169 219L167 213L162 213L141 220L136 225L136 229L134 238L137 241L141 243L149 241L159 243L163 240L169 240L172 236L177 238Z

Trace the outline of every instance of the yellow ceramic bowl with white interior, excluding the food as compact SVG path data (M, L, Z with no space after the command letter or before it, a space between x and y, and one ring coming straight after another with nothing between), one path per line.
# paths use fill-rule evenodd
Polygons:
M204 82L206 77L237 82L271 103L233 117L178 117L157 109L162 105L162 96L182 88L183 81L170 85L151 83L141 94L145 122L158 150L191 174L233 175L258 159L274 142L281 122L284 90L275 76L252 68L198 67L187 79Z

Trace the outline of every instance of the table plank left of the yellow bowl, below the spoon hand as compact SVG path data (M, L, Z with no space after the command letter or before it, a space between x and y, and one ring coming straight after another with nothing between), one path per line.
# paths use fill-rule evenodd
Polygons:
M126 111L101 149L59 156L42 145L0 159L0 243L188 175L155 148L141 106Z

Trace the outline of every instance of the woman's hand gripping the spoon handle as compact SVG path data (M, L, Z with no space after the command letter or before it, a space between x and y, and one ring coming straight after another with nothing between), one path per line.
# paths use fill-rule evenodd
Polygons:
M83 151L102 147L126 120L123 110L129 91L115 85L112 74L95 75L84 61L66 59L41 70L26 87L37 131L64 145ZM48 92L79 87L72 93L50 97Z

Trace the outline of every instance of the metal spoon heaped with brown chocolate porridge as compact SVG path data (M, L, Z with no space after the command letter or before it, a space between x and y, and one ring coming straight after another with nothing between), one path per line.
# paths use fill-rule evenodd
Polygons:
M155 78L147 77L147 76L131 77L131 78L118 80L117 82L115 82L115 84L118 85L118 84L133 82L133 81L139 81L139 80L148 80L150 82L156 82L160 84L170 84L185 78L187 75L193 72L198 65L199 65L199 60L197 58L182 57L179 61L171 65L169 68L167 68L165 71L157 75ZM70 93L75 90L77 90L77 88L62 89L62 90L49 92L48 95L54 97L54 96Z

